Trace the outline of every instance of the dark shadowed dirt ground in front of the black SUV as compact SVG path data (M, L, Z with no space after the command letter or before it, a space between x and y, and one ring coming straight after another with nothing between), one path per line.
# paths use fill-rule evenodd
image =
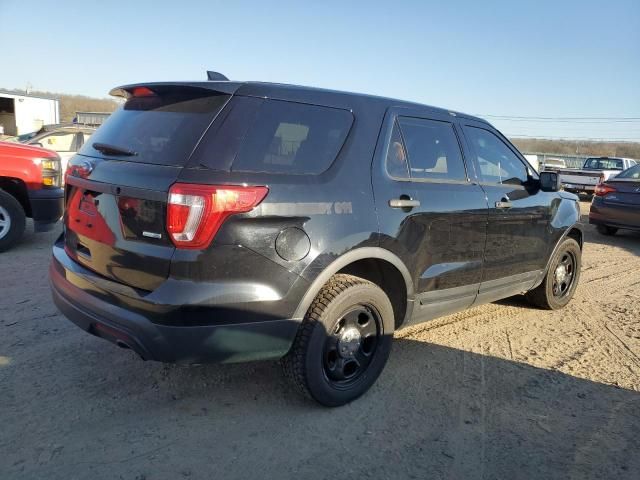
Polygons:
M5 412L27 423L5 432L15 437L3 447L7 465L24 474L179 478L188 467L218 478L640 476L638 392L490 355L397 339L370 392L326 409L299 396L275 362L163 365L90 337L52 353L47 365L4 376L9 392L15 382L34 384L28 398L5 401ZM55 404L38 390L52 372ZM25 460L41 444L31 428L64 447L52 461ZM348 475L330 475L336 464Z

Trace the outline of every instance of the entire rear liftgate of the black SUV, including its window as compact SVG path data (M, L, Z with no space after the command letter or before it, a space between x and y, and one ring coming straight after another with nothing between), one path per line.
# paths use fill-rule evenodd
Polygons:
M179 84L132 89L70 162L67 254L117 282L158 287L175 249L166 231L169 188L229 98Z

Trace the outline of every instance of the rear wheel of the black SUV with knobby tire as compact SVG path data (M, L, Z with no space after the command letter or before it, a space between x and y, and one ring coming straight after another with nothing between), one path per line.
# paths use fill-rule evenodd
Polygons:
M380 287L353 275L334 275L282 359L284 373L318 403L344 405L365 393L384 369L393 329L393 307Z

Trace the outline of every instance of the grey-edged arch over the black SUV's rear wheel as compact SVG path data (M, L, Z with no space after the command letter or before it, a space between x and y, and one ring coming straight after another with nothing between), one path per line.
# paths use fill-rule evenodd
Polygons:
M409 270L402 260L380 247L362 247L341 255L311 282L294 313L294 318L305 316L313 299L322 287L337 273L348 273L369 280L387 294L393 305L395 326L398 328L413 312L414 286ZM398 284L401 289L398 289Z

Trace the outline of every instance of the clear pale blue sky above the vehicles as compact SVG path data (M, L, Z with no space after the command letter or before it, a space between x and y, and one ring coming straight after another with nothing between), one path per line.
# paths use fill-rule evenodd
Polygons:
M639 0L0 0L0 25L4 88L106 96L213 69L473 114L580 118L490 118L509 135L640 140Z

